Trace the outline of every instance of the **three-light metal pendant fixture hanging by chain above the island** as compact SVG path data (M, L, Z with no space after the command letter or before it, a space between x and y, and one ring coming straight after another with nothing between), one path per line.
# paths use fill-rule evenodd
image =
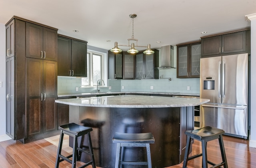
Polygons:
M148 44L148 46L141 46L141 45L138 45L138 39L135 39L134 38L134 35L133 35L133 19L137 17L136 14L130 14L129 15L130 18L132 18L132 38L128 38L128 45L123 45L123 44L118 44L117 42L115 42L115 46L114 48L110 49L110 51L112 52L115 52L115 53L120 53L122 52L122 49L118 48L118 46L126 46L126 47L130 47L130 49L127 51L128 53L138 53L139 51L137 49L135 49L135 47L146 47L147 49L143 52L145 54L152 54L152 53L155 53L152 49L150 49L150 44ZM134 42L132 42L130 44L130 41L134 41L136 42L136 45L134 45Z

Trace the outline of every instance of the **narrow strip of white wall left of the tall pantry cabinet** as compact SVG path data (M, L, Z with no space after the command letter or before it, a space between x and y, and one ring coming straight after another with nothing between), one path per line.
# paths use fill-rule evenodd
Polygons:
M5 69L5 26L0 24L0 135L6 133L6 104L5 104L5 85L6 85L6 69Z

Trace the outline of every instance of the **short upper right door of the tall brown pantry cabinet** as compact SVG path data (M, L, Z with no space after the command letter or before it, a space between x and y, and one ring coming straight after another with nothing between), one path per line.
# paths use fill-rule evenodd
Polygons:
M43 57L44 59L57 61L57 31L43 28Z

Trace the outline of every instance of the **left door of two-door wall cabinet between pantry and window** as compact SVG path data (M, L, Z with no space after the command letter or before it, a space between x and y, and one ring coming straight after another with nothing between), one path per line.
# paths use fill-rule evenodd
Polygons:
M58 76L71 75L71 39L58 36Z

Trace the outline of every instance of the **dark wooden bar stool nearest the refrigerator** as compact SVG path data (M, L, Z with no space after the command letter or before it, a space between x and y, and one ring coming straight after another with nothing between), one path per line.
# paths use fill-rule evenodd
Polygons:
M185 134L187 135L187 144L186 144L183 168L186 168L188 164L188 160L192 160L200 156L203 156L203 160L202 160L203 168L208 168L208 163L212 165L211 168L219 168L220 166L224 166L224 168L228 168L228 163L226 159L226 153L225 153L225 148L224 148L224 143L222 138L222 134L224 133L225 133L224 130L214 128L211 126L206 126L197 130L186 130ZM202 142L202 153L188 157L189 150L190 150L190 142L192 138ZM222 162L219 164L215 164L207 160L207 151L206 151L207 142L214 139L218 139L220 144Z

